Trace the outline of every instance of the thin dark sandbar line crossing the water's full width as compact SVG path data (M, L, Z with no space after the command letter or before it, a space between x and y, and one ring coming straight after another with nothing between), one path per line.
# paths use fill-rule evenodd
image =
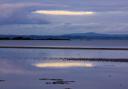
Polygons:
M18 49L75 49L75 50L126 50L128 48L111 47L72 47L72 46L0 46L0 48L18 48Z

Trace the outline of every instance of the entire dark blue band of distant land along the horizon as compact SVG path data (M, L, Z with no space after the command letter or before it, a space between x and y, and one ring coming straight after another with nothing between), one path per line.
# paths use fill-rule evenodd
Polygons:
M0 35L0 40L128 40L128 34L72 33L65 35Z

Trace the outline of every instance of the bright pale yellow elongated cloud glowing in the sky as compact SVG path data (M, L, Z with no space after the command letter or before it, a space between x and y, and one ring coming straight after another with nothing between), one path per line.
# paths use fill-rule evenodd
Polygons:
M65 15L65 16L81 16L81 15L94 15L95 12L91 11L66 11L66 10L37 10L33 11L35 14L44 15Z

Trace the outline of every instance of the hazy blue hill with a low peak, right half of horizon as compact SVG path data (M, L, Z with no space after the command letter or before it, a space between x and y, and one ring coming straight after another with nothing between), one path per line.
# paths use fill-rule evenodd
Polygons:
M99 34L99 33L74 33L63 35L70 39L104 39L104 40L128 40L128 34Z

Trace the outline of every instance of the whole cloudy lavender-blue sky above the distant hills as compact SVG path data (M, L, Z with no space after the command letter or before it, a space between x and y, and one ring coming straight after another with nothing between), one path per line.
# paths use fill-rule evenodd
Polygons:
M128 0L0 0L0 34L128 34Z

